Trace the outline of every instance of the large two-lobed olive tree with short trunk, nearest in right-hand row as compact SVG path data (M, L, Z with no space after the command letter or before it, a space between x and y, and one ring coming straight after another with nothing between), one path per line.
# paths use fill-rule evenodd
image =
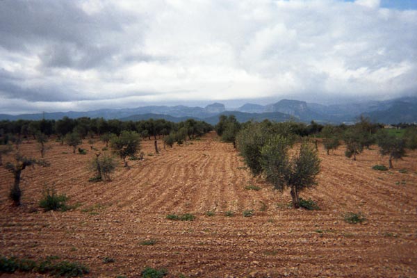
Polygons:
M320 160L316 147L304 141L300 152L290 158L291 142L283 136L275 136L261 149L261 165L266 180L277 190L291 189L293 207L300 207L300 191L316 186L320 172Z

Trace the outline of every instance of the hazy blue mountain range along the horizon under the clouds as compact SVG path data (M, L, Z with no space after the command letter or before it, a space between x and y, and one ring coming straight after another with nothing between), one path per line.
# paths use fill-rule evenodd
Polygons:
M363 103L336 104L325 106L291 99L282 99L275 104L245 104L234 111L226 111L223 104L210 104L202 107L188 106L143 106L124 109L101 109L85 112L58 112L22 115L0 114L0 120L59 120L63 117L103 117L119 120L165 119L181 122L193 118L216 124L220 115L235 115L239 122L265 119L283 122L294 119L300 122L340 124L355 122L360 115L369 117L373 122L397 124L399 122L417 122L417 97L402 97L389 101L367 101Z

